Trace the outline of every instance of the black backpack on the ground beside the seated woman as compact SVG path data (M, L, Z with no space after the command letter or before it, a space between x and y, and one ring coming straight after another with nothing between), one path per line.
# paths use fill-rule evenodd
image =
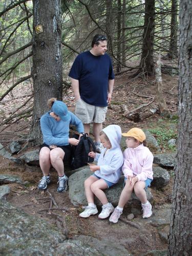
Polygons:
M73 136L75 139L79 138L79 135L75 134ZM94 158L89 157L88 154L93 151L96 152L96 147L93 140L88 136L88 134L83 134L80 138L80 141L77 146L72 146L72 169L77 169L83 165L87 165L87 163L91 163L94 161Z

